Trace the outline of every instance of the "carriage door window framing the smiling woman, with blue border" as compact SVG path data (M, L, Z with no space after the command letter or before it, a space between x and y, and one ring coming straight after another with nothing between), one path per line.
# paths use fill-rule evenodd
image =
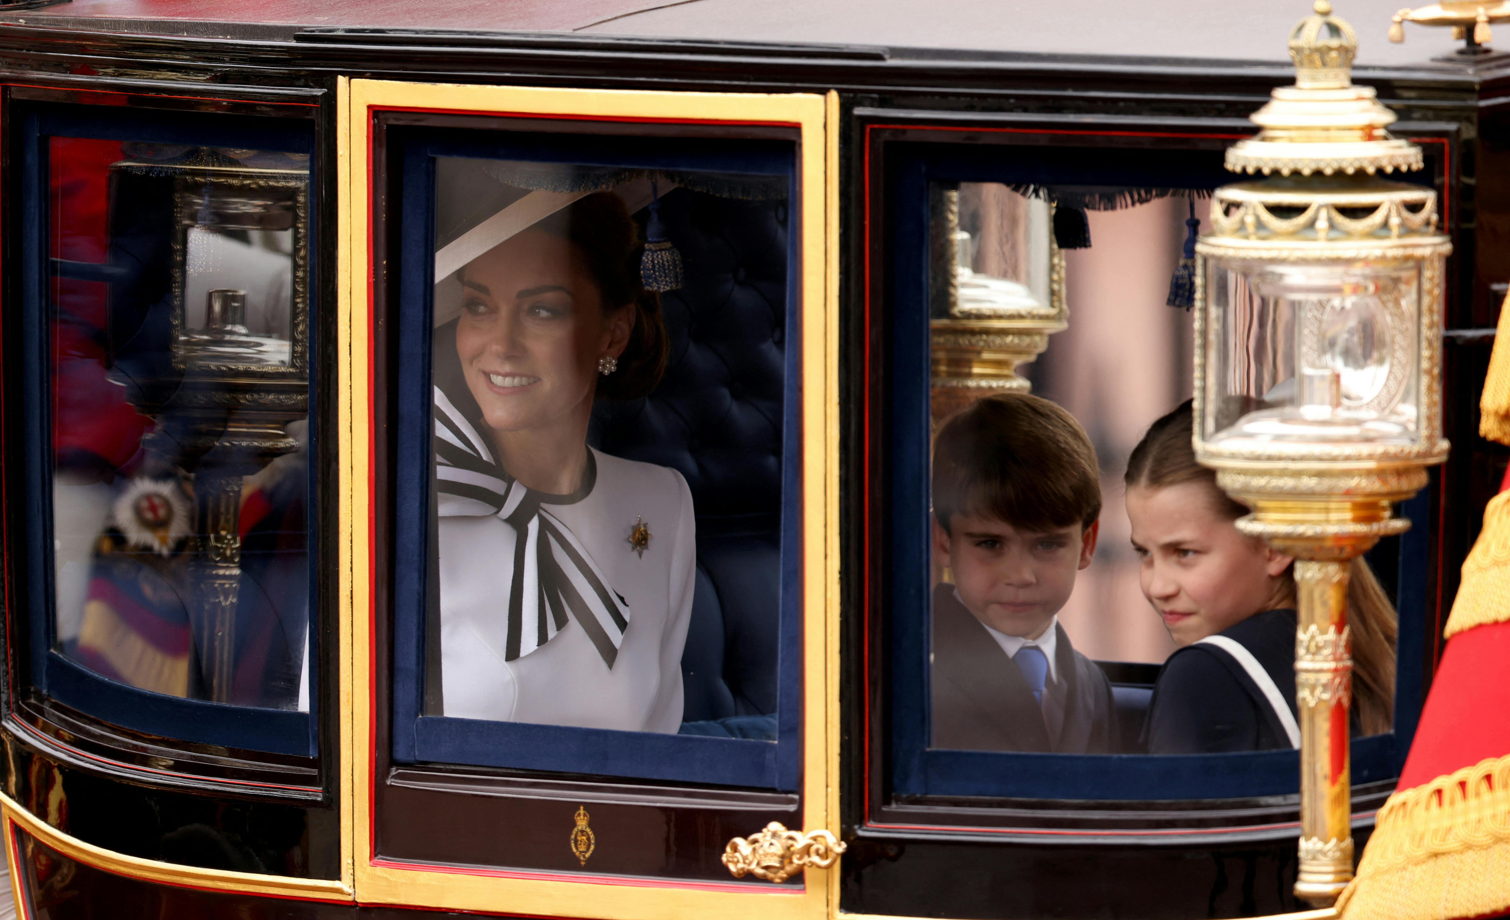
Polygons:
M396 757L790 789L791 145L545 146L405 149L429 564Z

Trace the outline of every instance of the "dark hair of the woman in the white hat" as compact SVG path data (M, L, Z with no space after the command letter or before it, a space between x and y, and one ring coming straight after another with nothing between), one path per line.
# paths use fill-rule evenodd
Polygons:
M619 356L619 368L598 377L598 395L609 400L639 400L660 383L670 354L660 297L640 281L640 255L645 241L624 199L612 192L578 198L535 225L554 237L571 240L587 261L598 285L602 309L634 309L630 344Z

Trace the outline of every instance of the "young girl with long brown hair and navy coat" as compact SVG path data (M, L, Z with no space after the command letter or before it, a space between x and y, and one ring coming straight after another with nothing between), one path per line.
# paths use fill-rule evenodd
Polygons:
M1294 560L1237 529L1247 508L1196 463L1190 436L1187 401L1149 427L1125 478L1143 596L1179 646L1154 685L1148 753L1299 747ZM1353 733L1389 731L1395 611L1361 558L1351 564L1347 603Z

